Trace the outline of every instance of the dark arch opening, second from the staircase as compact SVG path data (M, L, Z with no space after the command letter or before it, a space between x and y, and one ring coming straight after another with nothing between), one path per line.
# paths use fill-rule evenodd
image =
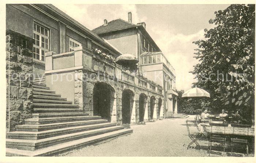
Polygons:
M131 90L124 90L122 93L122 123L130 124L132 108L134 103L134 93Z

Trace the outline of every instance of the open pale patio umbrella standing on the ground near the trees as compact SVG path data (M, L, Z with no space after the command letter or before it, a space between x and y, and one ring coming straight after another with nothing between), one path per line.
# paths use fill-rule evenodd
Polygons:
M182 94L181 98L191 98L191 99L203 99L203 98L210 98L210 94L203 90L202 88L192 88L187 90ZM199 106L199 102L197 101L197 107Z

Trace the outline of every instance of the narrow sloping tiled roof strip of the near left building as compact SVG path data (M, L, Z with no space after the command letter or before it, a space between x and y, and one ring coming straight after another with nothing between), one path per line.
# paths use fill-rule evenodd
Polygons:
M87 32L89 32L91 35L97 37L98 39L102 40L101 37L99 37L96 33L94 33L93 31L91 31L90 29L84 27L82 24L80 24L78 21L76 21L75 19L73 19L72 17L68 16L65 12L61 11L59 8L55 7L52 4L46 4L48 7L50 7L51 9L53 9L54 11L58 12L60 15L64 16L65 18L67 18L68 20L72 21L73 23L75 23L76 25L78 25L79 27L83 28L84 30L86 30ZM102 40L103 41L103 40Z

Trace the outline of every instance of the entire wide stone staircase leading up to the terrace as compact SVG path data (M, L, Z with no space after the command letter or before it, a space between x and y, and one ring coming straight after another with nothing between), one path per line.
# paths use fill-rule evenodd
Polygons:
M33 83L33 117L6 134L7 156L55 155L132 133L100 116L88 116L42 83Z

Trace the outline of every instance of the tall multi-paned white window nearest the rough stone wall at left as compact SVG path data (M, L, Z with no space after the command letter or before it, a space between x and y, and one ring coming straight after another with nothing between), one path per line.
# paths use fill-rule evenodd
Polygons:
M49 29L34 23L33 39L33 58L45 61L45 53L49 51Z

